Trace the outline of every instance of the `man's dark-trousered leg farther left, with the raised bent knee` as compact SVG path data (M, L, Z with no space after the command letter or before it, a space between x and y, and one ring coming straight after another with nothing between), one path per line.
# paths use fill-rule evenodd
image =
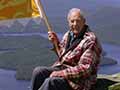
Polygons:
M32 90L38 90L44 80L49 77L49 75L54 71L55 68L51 67L36 67L33 70L33 75L31 79Z

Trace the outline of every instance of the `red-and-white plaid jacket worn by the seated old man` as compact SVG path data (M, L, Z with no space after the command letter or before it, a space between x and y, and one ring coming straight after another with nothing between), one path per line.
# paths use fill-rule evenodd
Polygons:
M61 55L65 52L68 33L69 31L59 44ZM95 34L86 31L81 42L72 51L68 51L54 66L61 64L67 66L61 72L73 90L89 90L96 82L101 51Z

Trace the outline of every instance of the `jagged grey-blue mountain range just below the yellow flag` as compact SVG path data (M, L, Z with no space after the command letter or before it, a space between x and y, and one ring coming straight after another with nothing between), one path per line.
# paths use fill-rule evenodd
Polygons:
M28 20L26 22L26 20ZM44 24L44 21L36 22L33 18L28 19L16 19L12 21L12 24L8 24L11 20L7 20L6 23L0 24L0 34L2 33L33 33L33 32L44 32L47 27ZM26 22L26 24L24 24Z

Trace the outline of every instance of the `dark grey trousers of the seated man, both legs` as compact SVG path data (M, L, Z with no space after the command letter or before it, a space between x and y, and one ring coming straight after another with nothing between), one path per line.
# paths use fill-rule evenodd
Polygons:
M36 67L32 75L32 90L72 90L68 82L62 77L49 77L60 67Z

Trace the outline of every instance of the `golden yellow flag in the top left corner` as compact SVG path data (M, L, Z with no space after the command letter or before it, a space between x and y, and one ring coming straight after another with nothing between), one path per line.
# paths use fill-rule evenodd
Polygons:
M34 0L0 1L0 20L38 16L41 15Z

